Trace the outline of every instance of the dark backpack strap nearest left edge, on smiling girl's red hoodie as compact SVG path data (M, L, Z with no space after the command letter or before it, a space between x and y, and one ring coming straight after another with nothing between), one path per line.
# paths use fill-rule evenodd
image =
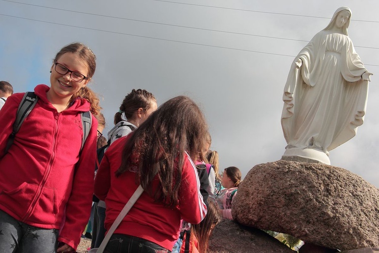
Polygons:
M16 113L16 120L13 123L13 132L8 138L7 147L5 152L9 150L12 146L13 141L15 140L16 133L20 130L22 122L26 116L29 115L30 111L34 108L35 104L38 101L38 97L34 92L26 92L24 97L21 100L20 105L18 106Z

